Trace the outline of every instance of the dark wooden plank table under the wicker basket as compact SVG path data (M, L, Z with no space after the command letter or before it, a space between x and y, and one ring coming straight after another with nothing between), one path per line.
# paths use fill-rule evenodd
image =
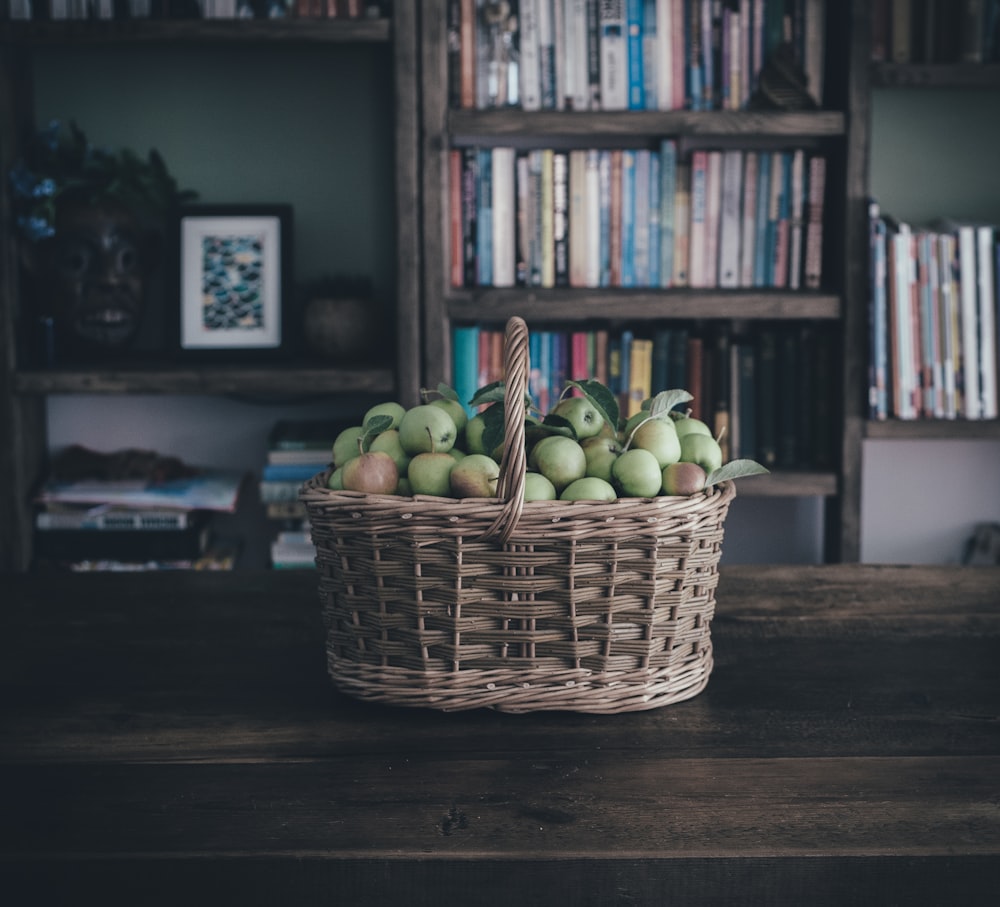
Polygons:
M708 688L617 716L348 700L311 571L2 589L7 904L1000 897L1000 568L723 568Z

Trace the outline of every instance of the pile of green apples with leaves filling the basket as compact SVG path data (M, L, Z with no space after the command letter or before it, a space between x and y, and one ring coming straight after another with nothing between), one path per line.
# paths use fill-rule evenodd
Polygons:
M524 402L526 501L612 501L691 495L716 482L767 470L753 460L723 463L708 425L678 408L693 399L662 391L622 419L617 399L597 381L570 381L539 413ZM368 494L496 496L506 400L501 382L477 391L469 416L454 389L422 392L410 408L378 403L333 444L327 487Z

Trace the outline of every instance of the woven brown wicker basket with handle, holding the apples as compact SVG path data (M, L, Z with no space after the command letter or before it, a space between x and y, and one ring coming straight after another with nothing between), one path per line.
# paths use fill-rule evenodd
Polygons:
M528 332L507 325L508 394ZM688 699L710 623L732 482L691 497L523 502L524 420L508 407L497 498L302 489L327 661L356 698L442 710L612 713Z

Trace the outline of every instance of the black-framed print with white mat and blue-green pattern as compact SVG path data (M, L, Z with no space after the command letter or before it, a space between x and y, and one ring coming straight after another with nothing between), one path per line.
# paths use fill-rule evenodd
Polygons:
M182 351L275 354L287 344L291 206L181 210Z

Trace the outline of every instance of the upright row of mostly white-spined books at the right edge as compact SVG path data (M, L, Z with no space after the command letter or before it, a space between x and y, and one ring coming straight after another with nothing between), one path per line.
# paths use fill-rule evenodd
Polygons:
M869 215L870 418L996 419L996 226Z

